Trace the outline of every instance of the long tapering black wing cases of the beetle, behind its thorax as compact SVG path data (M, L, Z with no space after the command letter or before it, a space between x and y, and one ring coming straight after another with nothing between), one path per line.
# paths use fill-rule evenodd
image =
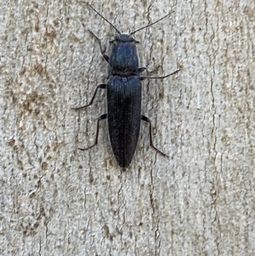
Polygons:
M142 83L136 76L110 77L107 83L108 129L120 167L135 153L141 123Z

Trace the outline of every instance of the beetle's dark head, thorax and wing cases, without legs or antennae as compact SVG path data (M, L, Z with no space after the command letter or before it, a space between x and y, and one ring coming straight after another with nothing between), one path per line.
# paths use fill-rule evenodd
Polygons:
M129 34L119 34L109 59L108 130L120 167L128 167L135 154L141 123L142 83L133 41Z

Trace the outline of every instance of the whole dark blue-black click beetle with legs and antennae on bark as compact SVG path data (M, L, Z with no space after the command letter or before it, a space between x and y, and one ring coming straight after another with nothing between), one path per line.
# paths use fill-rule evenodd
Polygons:
M113 43L112 52L110 57L105 54L102 48L101 40L92 31L94 38L98 41L100 52L109 64L109 71L107 77L107 84L99 84L94 91L89 104L82 107L76 107L73 109L84 109L92 105L98 89L107 90L107 114L103 114L98 118L97 129L96 129L96 140L94 144L87 148L78 148L82 151L91 149L98 144L98 132L99 132L99 121L108 119L108 132L110 136L110 142L112 145L113 153L120 167L128 167L131 163L133 155L135 154L136 146L138 143L138 137L140 132L141 120L146 121L150 125L150 146L156 149L157 152L167 156L163 151L157 149L152 142L152 126L151 121L148 117L141 114L141 102L142 102L142 80L143 79L164 79L178 73L180 70L176 70L173 73L164 75L163 77L141 77L140 73L146 68L139 68L138 54L135 43L139 43L133 38L133 34L137 31L145 29L146 27L156 24L160 20L168 17L171 13L164 16L163 18L149 24L140 29L136 29L130 34L120 33L117 27L113 26L103 15L101 15L91 4L84 2L92 10L110 24L117 35Z

